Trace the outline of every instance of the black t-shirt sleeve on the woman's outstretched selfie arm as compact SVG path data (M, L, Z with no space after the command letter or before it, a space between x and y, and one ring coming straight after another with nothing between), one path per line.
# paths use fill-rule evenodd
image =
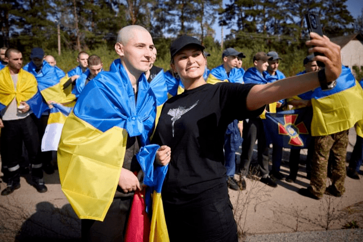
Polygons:
M221 85L220 106L222 116L227 116L230 120L245 120L257 117L265 109L265 106L253 111L247 109L247 95L256 84L222 82L216 85Z

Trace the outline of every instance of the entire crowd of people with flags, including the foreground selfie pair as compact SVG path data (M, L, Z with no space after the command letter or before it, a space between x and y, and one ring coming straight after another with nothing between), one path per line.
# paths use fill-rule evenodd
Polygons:
M81 219L83 241L123 241L134 193L143 187L141 160L167 166L165 241L238 241L228 187L246 189L256 141L261 182L277 187L277 180L297 178L300 149L291 149L285 177L283 149L273 143L269 169L262 122L267 112L313 109L314 139L306 160L310 186L299 193L341 197L346 174L360 178L363 80L342 67L338 45L314 33L311 38L307 45L316 47L310 52L325 56L307 56L305 71L288 78L278 70L283 60L275 51L257 52L254 67L244 71L245 55L227 48L222 64L208 70L204 46L190 36L171 44L171 69L164 72L153 65L157 52L150 33L135 25L119 31L120 59L109 71L102 57L84 51L77 56L79 66L64 73L41 48L31 50L24 67L20 51L1 48L0 88L6 91L0 93L0 152L7 183L1 195L20 187L27 168L36 190L47 191L43 170L52 173L54 167L51 151L42 151L40 142L52 104L59 103L73 107L63 126L58 166L62 191ZM354 125L357 142L347 173L348 129ZM328 176L332 185L326 187Z

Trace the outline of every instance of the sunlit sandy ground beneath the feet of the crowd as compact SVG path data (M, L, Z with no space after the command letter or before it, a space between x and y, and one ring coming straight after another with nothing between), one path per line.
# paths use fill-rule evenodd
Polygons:
M347 157L354 143L355 131L351 129ZM285 175L288 175L288 155L289 150L284 150L281 171ZM295 183L278 181L278 187L272 188L248 179L247 190L229 190L241 238L243 234L363 227L362 176L361 180L346 178L346 193L342 197L324 195L321 200L298 194L300 188L309 185L305 176L302 165ZM238 175L235 178L240 179ZM0 241L80 241L80 220L61 192L58 171L45 174L48 191L43 194L37 193L28 181L29 175L22 177L20 189L0 196ZM5 187L1 182L0 189Z

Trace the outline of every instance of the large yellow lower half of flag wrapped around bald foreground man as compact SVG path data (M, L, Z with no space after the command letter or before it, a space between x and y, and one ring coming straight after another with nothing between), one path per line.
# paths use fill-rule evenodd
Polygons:
M103 221L112 203L126 150L127 132L102 132L72 112L65 121L58 160L62 191L80 219Z

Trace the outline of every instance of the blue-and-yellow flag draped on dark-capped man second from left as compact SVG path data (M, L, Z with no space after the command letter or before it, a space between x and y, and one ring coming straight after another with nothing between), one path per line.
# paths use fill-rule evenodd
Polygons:
M24 66L24 70L30 72L35 76L38 82L39 91L42 93L45 101L55 101L62 103L66 98L66 93L63 91L63 85L69 79L68 75L64 72L57 71L57 69L43 61L42 69L36 73L35 64L30 61ZM62 76L64 74L64 76ZM61 75L61 76L59 76Z

